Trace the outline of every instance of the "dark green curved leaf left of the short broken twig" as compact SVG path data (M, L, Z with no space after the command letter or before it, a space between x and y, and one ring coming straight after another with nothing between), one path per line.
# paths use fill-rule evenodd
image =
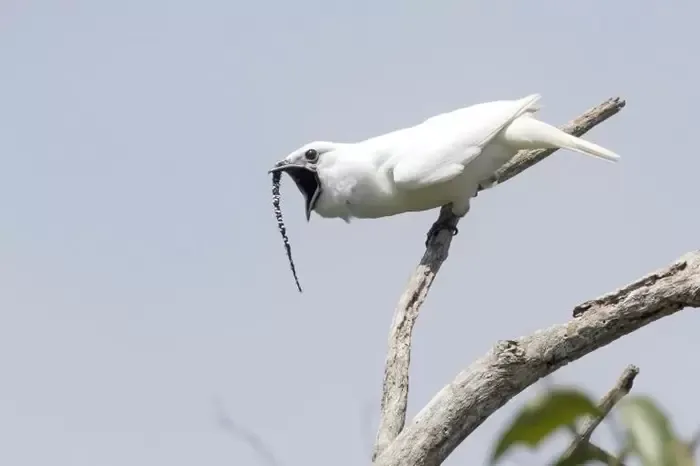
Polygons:
M541 395L525 405L503 432L491 455L491 464L514 446L536 447L560 427L575 423L585 415L598 416L600 413L583 392L554 389Z

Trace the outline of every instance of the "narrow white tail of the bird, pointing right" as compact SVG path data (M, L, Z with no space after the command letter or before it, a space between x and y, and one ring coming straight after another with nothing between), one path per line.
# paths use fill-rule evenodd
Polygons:
M601 158L609 162L617 162L620 156L616 153L585 141L536 120L532 113L526 113L515 119L505 128L503 136L508 144L521 149L569 149L591 157Z

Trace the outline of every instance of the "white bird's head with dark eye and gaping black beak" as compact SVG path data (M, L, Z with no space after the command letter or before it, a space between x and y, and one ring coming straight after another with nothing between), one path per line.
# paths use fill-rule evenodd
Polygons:
M306 201L307 221L311 218L311 211L323 191L319 170L333 163L331 154L337 147L338 144L325 141L305 144L277 162L269 171L284 172L294 180Z

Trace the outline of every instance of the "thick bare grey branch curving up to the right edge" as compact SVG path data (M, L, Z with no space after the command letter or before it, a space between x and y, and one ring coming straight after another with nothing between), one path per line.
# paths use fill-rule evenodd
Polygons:
M498 342L425 406L377 466L435 466L508 400L560 367L684 307L700 307L700 251L574 308L574 318Z

